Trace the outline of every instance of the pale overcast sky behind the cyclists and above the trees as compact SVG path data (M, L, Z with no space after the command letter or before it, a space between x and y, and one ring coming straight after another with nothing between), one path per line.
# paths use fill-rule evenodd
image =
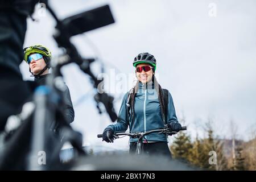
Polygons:
M238 138L248 139L255 129L254 0L49 2L60 18L109 4L115 23L76 36L72 42L82 56L100 57L107 73L115 69L116 73L131 75L132 61L138 53L154 55L160 85L170 90L177 116L185 116L193 137L196 133L203 137L202 126L208 118L213 119L214 129L221 137L230 136L231 119L238 127ZM61 51L52 38L54 20L48 13L35 13L34 17L38 22L28 19L24 47L43 44L57 56ZM94 73L100 73L99 65L93 65ZM20 68L24 79L31 79L28 65L23 63ZM128 138L113 144L96 138L110 124L108 115L98 115L88 76L74 64L65 66L63 73L75 106L72 125L84 134L85 143L127 147ZM114 94L117 112L125 92Z

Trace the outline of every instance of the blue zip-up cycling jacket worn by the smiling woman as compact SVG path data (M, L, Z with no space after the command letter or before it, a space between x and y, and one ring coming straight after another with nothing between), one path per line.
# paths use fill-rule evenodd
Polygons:
M128 126L130 127L130 132L139 131L149 131L164 127L164 121L162 117L162 111L160 103L158 100L158 93L154 89L154 84L152 86L147 86L147 84L142 84L139 82L138 93L135 95L134 110L135 118L134 122L131 117L128 119L129 114L127 113L127 96L128 92L125 94L122 100L122 105L119 110L117 123L114 125L109 125L106 129L113 129L114 131L126 131ZM167 123L177 122L177 117L174 108L174 102L172 100L171 93L168 96L168 114ZM137 138L130 138L130 142L137 142ZM149 142L167 142L167 136L165 134L150 134L146 136L146 140Z

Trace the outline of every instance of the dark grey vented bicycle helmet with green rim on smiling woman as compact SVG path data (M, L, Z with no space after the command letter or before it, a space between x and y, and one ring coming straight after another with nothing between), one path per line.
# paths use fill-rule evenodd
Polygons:
M148 52L139 53L138 56L134 58L133 66L136 67L137 64L147 63L151 64L154 67L154 71L156 69L156 59L153 55Z

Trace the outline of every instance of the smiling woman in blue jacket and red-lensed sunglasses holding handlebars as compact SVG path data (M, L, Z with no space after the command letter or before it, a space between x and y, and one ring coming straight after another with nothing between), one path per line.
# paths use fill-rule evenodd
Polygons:
M181 129L170 92L168 92L167 118L164 117L163 90L154 77L155 57L147 52L140 53L135 57L133 66L138 78L137 84L123 97L117 123L109 125L104 130L102 139L106 142L113 142L114 132L126 131L128 126L132 133L158 129L164 127L164 123L174 131ZM137 140L130 138L130 154L135 153ZM143 150L146 154L171 156L165 134L150 134L144 137Z

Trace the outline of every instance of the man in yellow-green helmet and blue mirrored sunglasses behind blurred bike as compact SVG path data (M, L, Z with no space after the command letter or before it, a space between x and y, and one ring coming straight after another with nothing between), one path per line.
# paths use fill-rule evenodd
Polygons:
M50 68L50 61L51 61L51 51L48 48L35 45L24 48L24 61L29 65L29 70L32 75L35 77L34 81L36 86L45 85L46 78L50 75L49 68ZM68 123L74 121L74 109L69 93L68 86L65 85L64 91L64 114ZM53 129L56 129L55 126Z

